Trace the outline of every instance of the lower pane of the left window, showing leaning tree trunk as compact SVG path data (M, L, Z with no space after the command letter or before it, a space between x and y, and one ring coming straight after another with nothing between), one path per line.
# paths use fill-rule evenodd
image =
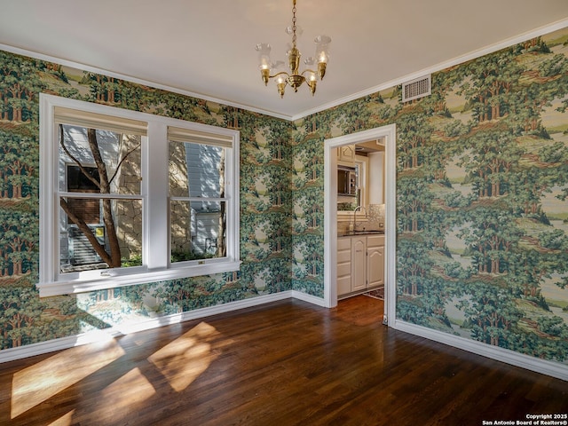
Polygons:
M61 198L60 207L60 272L142 264L141 200Z

